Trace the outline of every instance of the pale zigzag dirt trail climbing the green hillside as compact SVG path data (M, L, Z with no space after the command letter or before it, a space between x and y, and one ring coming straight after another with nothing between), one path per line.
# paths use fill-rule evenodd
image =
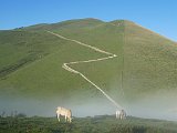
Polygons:
M112 58L116 58L117 55L116 54L113 54L113 53L110 53L110 52L106 52L104 50L101 50L98 48L95 48L95 47L92 47L92 45L88 45L86 43L83 43L83 42L80 42L77 40L73 40L73 39L69 39L69 38L65 38L63 35L60 35L58 33L54 33L54 32L51 32L51 31L48 31L49 33L53 34L53 35L56 35L61 39L64 39L64 40L67 40L67 41L72 41L72 42L75 42L80 45L83 45L83 47L86 47L86 48L90 48L96 52L100 52L100 53L104 53L104 54L107 54L107 58L100 58L100 59L93 59L93 60L86 60L86 61L75 61L75 62L69 62L69 63L63 63L62 68L70 71L70 72L73 72L75 74L80 74L83 79L85 79L87 82L90 82L92 85L94 85L98 91L102 92L102 94L104 94L115 106L116 109L123 109L117 102L115 102L106 92L104 92L100 86L97 86L95 83L93 83L91 80L88 80L84 74L82 74L81 72L70 68L69 65L71 64L79 64L79 63L88 63L88 62L96 62L96 61L104 61L104 60L108 60L108 59L112 59Z

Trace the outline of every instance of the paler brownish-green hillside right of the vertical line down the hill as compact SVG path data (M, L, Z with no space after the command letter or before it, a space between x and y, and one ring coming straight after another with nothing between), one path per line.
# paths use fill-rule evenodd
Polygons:
M132 22L125 22L125 89L131 88L131 93L142 93L143 96L149 92L176 91L176 44Z

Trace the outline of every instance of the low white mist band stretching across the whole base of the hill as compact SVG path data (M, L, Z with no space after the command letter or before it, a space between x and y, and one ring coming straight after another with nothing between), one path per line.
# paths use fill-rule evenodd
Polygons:
M136 101L127 101L122 106L127 115L177 121L177 98L174 92L156 92ZM79 104L80 103L80 104ZM106 99L98 98L91 101L64 102L58 98L52 100L34 100L27 98L0 96L0 112L10 115L12 111L24 113L28 116L55 116L56 106L72 110L73 116L94 116L115 114L116 108Z

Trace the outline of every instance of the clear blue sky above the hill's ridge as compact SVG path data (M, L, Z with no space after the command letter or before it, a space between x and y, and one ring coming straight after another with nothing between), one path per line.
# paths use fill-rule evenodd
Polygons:
M132 20L177 41L177 0L0 0L0 29L70 19Z

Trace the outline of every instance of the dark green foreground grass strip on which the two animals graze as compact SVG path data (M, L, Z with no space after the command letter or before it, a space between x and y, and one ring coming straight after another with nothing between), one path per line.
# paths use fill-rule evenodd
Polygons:
M56 117L1 117L0 133L176 133L177 123L160 120L114 116L74 117L72 123Z

